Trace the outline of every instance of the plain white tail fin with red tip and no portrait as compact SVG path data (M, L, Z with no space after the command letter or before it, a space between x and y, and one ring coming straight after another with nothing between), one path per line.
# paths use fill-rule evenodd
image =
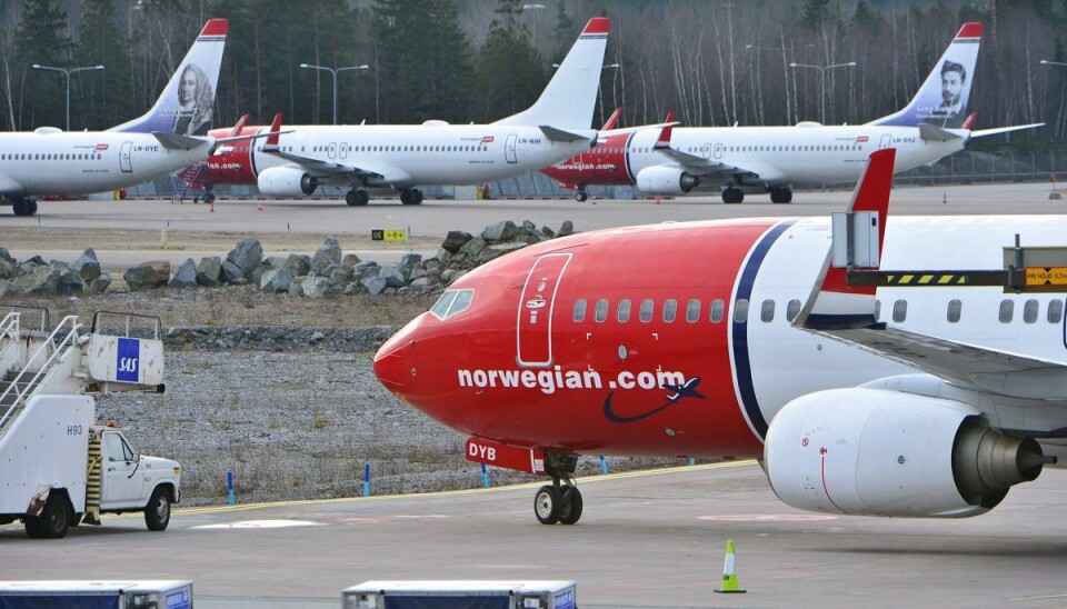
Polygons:
M594 17L559 64L537 103L495 124L549 124L560 129L589 129L600 88L600 69L611 20Z

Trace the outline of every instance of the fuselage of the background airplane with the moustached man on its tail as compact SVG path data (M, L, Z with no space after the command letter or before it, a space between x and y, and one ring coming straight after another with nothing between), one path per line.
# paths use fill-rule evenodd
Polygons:
M596 148L544 171L565 183L635 184L641 170L674 162L655 150L659 133L659 129L606 132ZM896 148L899 173L961 150L967 132L958 133L960 138L948 141L926 141L915 127L675 127L670 147L712 164L751 168L730 174L745 183L842 183L859 179L875 150Z

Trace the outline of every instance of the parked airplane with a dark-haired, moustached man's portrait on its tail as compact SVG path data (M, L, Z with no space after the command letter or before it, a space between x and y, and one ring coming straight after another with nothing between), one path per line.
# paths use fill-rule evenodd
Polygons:
M589 184L632 184L645 194L669 196L718 181L726 203L740 203L746 190L788 203L794 182L855 182L874 150L896 148L900 172L958 152L974 138L1040 127L971 131L973 116L965 121L981 29L964 24L910 103L867 124L677 128L670 146L659 149L656 130L619 129L542 171L575 189L578 201L586 200Z

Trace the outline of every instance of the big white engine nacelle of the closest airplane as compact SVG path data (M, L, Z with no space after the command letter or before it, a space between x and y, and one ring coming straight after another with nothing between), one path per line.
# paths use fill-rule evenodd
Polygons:
M1040 446L993 430L971 406L882 389L797 398L764 446L771 488L809 511L965 517L1037 478Z

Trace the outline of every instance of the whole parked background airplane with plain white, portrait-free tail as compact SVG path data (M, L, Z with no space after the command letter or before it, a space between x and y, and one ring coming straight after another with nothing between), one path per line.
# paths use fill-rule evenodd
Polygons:
M277 141L219 149L190 170L191 181L207 190L207 201L222 183L255 183L269 197L301 197L327 184L350 187L349 206L367 204L369 188L398 189L402 203L419 204L420 184L472 184L536 171L596 141L590 126L609 26L605 17L590 19L537 102L512 117L490 124L288 127Z

